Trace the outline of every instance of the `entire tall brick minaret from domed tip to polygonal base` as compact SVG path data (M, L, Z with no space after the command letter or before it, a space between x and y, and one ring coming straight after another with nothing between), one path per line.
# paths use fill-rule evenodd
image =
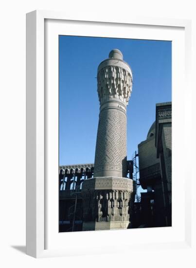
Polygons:
M132 72L118 49L98 66L100 102L94 177L85 180L83 230L126 229L134 200L133 181L126 178L126 106Z

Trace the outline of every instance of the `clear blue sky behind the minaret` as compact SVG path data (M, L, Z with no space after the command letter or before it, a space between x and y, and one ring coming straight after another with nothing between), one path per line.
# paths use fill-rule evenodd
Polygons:
M171 101L171 41L59 36L59 164L93 163L99 116L97 67L118 48L133 72L127 159L146 139L155 105Z

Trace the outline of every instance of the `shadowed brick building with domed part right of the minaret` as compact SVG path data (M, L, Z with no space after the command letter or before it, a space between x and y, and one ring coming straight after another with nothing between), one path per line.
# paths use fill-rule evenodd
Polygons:
M141 223L145 227L172 225L172 104L156 104L156 121L138 145Z

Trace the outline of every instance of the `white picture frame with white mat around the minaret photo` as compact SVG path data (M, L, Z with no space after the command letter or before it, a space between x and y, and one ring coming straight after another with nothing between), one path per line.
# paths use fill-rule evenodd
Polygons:
M52 24L50 25L50 21ZM49 24L47 24L49 22ZM53 23L54 22L54 23ZM67 23L67 24L66 24ZM55 24L55 25L54 25ZM71 25L71 26L70 26ZM74 28L74 25L77 27ZM56 54L53 52L53 56L48 59L48 49L52 51L56 48L56 42L53 42L53 36L62 34L63 31L67 35L78 34L78 25L80 27L79 35L85 36L92 34L93 31L99 33L100 25L102 27L102 36L107 37L110 33L112 37L115 36L115 31L112 32L111 27L118 26L123 28L123 36L125 32L129 31L129 27L132 27L132 35L134 37L143 39L152 39L156 35L157 39L166 39L169 35L169 40L174 43L173 63L175 68L173 71L173 84L172 88L176 93L175 103L173 105L174 113L173 118L177 118L178 114L184 118L183 122L178 118L174 122L176 127L173 127L174 134L179 131L180 124L184 126L180 135L176 135L176 144L181 144L182 152L188 152L190 150L189 142L191 140L191 133L186 131L191 127L191 112L189 103L191 102L191 21L181 19L158 19L158 18L139 18L131 17L121 19L115 19L110 21L109 19L100 19L95 21L93 18L72 18L71 16L63 12L53 11L33 11L27 14L26 29L27 29L27 187L26 187L26 250L27 254L33 257L51 257L51 256L70 256L81 254L93 254L93 253L121 253L125 251L121 245L126 245L126 250L133 249L138 235L141 236L138 245L140 248L145 249L144 245L148 243L148 249L191 249L192 243L192 229L191 229L191 206L192 202L191 193L188 187L183 187L185 184L185 169L182 167L180 172L175 169L174 177L180 177L180 185L178 185L178 192L173 192L173 200L176 200L176 214L174 213L174 219L176 222L180 222L180 216L182 221L177 226L170 229L154 228L154 229L140 229L131 230L132 241L126 239L127 231L130 230L109 230L109 231L90 231L90 232L70 232L70 233L55 233L57 231L56 226L58 223L55 221L58 207L56 207L57 195L58 195L58 180L51 180L52 174L55 173L55 168L48 172L48 163L58 163L58 159L50 158L56 155L56 147L51 148L49 146L48 136L49 131L52 129L52 138L57 142L56 135L58 131L57 120L57 107L51 101L57 103L58 95L48 95L47 87L50 87L51 83L56 87L56 77L58 77L58 69L56 67ZM85 26L86 25L86 26ZM96 26L96 27L95 27ZM85 30L86 27L86 30ZM137 28L137 29L136 29ZM156 28L156 29L155 29ZM113 29L113 28L112 28ZM50 34L47 35L47 33ZM86 31L86 32L85 32ZM87 33L88 31L88 33ZM152 35L151 35L152 31ZM63 32L63 33L65 33ZM117 33L119 37L119 34ZM131 38L131 37L130 37ZM47 42L50 41L50 48L47 47ZM179 47L179 50L178 50ZM177 57L182 52L181 57ZM56 51L56 53L58 53ZM176 56L175 56L176 55ZM46 63L47 60L47 63ZM182 66L180 65L182 63ZM178 66L179 65L179 66ZM185 67L185 68L184 68ZM52 68L52 69L50 69ZM178 70L177 70L178 69ZM46 72L53 71L52 80L48 81ZM180 74L180 81L176 79L176 76ZM186 80L186 95L183 95L183 88ZM177 91L178 89L178 91ZM50 91L51 92L51 91ZM52 90L53 92L53 90ZM180 93L180 94L179 94ZM181 106L183 103L183 106ZM48 107L52 107L50 111L53 111L53 118L49 112ZM49 123L53 122L53 123ZM52 125L51 125L52 124ZM56 124L56 125L55 125ZM55 126L55 127L54 127ZM182 139L181 139L182 138ZM50 143L51 144L51 143ZM176 150L176 149L175 149ZM178 150L173 153L174 168L181 165L183 162L178 157ZM181 161L181 162L180 162ZM175 164L176 162L176 164ZM173 170L172 170L173 172ZM188 172L188 174L187 174ZM189 180L192 176L191 171L186 171L186 175ZM58 173L57 173L58 176ZM175 180L174 180L175 182ZM189 183L190 187L190 183ZM57 191L55 191L57 189ZM183 198L180 196L183 195ZM50 198L49 198L50 197ZM53 199L54 198L54 199ZM51 203L52 202L52 203ZM181 203L180 203L181 202ZM178 203L178 204L177 204ZM179 205L180 204L180 205ZM179 211L181 206L182 211ZM50 224L49 224L50 223ZM147 230L147 231L146 231ZM108 236L113 247L103 246L101 239ZM115 237L115 239L114 239ZM149 241L149 237L151 237ZM155 239L152 239L155 237ZM159 237L161 237L159 241ZM123 238L123 239L122 239ZM77 239L77 244L74 242ZM134 240L135 239L135 240ZM65 243L65 241L69 243ZM93 246L92 241L96 241L96 245ZM116 245L115 245L116 243ZM81 249L81 245L85 245L85 248ZM120 249L119 249L120 248Z

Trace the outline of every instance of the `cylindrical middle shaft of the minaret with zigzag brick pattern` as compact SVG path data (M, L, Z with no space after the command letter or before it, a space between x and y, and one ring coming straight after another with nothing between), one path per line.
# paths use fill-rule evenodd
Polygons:
M101 111L97 132L94 176L113 170L126 173L126 115L117 109ZM124 174L123 174L124 173Z

